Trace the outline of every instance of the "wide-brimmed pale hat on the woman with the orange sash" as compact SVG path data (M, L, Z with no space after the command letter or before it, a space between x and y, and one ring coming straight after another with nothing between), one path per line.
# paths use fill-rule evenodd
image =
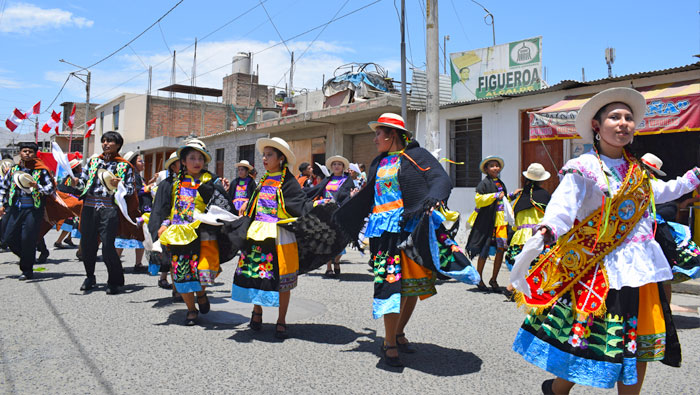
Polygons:
M634 121L639 124L644 119L647 102L641 93L632 88L610 88L591 97L576 115L576 132L586 143L593 142L593 125L595 114L610 103L625 103L632 110Z

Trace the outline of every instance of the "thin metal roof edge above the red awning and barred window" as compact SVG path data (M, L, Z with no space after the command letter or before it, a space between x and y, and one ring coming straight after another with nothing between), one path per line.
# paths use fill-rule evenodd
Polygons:
M700 70L700 62L691 63L689 65L680 66L680 67L672 67L669 69L643 71L643 72L639 72L639 73L621 75L619 77L601 78L601 79L592 80L592 81L583 81L582 82L582 81L574 81L574 80L562 80L558 84L555 84L555 85L552 85L552 86L549 86L546 88L534 90L534 91L515 93L512 95L494 96L494 97L491 97L488 99L476 99L476 100L464 100L464 101L459 101L459 102L452 102L452 103L448 103L445 105L441 105L440 108L451 108L451 107L460 107L460 106L469 105L469 104L476 104L476 103L487 103L487 102L491 102L491 101L500 101L500 100L512 98L512 97L538 95L540 93L561 91L561 90L566 90L566 89L574 89L574 88L580 88L583 86L602 85L602 84L607 84L610 82L628 81L628 80L633 80L636 78L647 78L647 77L654 77L654 76L659 76L659 75L682 73L684 71L692 71L692 70Z

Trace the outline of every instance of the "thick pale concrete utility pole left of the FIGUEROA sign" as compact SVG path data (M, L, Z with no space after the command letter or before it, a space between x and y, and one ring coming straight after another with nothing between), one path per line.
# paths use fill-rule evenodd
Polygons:
M425 148L433 152L440 148L440 36L438 32L438 0L426 0L426 66L428 80L425 106Z

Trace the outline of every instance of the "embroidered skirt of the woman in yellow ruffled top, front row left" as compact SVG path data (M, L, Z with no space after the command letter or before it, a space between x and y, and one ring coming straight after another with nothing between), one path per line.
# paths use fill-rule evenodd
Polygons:
M207 236L206 232L189 244L168 246L168 253L173 283L179 293L198 292L202 286L214 285L221 272L219 245L216 238Z

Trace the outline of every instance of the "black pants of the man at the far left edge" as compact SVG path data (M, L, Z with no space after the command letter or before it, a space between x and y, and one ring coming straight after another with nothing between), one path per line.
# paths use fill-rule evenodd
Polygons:
M19 268L31 277L36 262L36 243L39 238L39 226L44 218L44 208L10 207L3 241L19 257Z

